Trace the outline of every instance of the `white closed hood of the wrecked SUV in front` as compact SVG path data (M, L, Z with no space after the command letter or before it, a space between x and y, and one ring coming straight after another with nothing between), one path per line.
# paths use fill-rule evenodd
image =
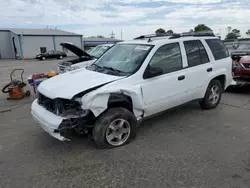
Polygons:
M38 91L50 99L71 99L80 92L121 78L83 68L43 81L39 85Z

